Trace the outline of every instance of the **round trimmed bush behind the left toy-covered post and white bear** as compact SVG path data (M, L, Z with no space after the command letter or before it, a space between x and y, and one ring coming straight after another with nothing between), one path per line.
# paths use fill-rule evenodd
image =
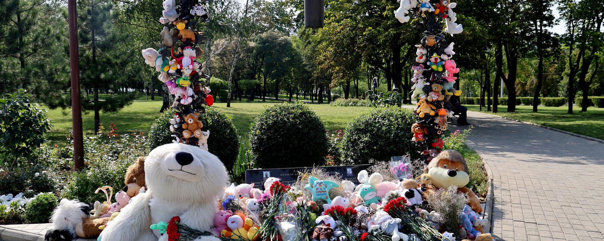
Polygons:
M150 148L161 146L163 144L172 143L174 137L170 132L170 119L174 117L174 109L164 111L155 123L151 126L149 132ZM204 131L210 130L210 138L208 138L208 149L210 153L218 156L220 161L229 170L233 167L233 163L239 154L239 138L237 137L237 129L233 124L233 120L225 114L210 106L206 106L205 113L199 115L199 120L204 123L201 129Z

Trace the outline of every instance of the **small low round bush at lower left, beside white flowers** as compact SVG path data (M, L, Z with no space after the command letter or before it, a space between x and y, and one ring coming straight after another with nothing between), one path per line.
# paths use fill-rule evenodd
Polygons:
M57 205L57 196L53 193L39 194L25 206L25 220L29 223L47 223Z

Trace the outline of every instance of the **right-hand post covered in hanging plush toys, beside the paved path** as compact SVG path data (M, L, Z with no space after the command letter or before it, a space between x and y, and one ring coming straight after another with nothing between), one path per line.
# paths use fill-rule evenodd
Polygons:
M445 33L458 34L463 31L453 8L457 3L448 0L400 0L400 7L394 11L399 22L418 19L416 27L422 30L421 42L417 47L417 57L413 62L413 89L411 97L419 97L414 110L419 121L411 127L414 141L425 150L422 155L425 164L446 147L443 135L448 129L447 119L452 117L452 95L461 95L454 88L459 72L452 56L454 43L445 40ZM445 23L443 27L442 23Z

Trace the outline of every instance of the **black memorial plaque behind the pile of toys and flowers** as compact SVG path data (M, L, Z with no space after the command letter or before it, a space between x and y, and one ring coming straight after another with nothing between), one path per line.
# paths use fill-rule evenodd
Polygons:
M279 169L248 169L245 170L245 183L254 183L255 187L263 188L264 181L268 178L281 178L283 184L294 184L298 180L298 172L310 172L312 169L319 168L326 172L340 173L343 180L359 184L356 176L362 170L367 169L371 165L334 165L330 167L297 167L297 168L279 168Z

